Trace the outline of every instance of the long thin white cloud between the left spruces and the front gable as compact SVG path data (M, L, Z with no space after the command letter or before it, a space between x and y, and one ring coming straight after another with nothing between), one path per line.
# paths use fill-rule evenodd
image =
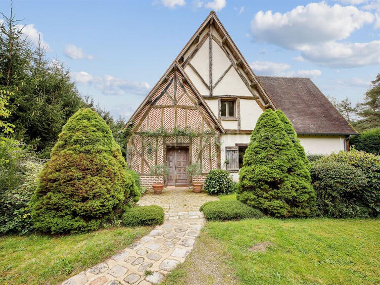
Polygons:
M124 80L111 75L93 76L85 71L72 72L71 79L78 84L93 86L104 95L145 95L150 89L146 82Z

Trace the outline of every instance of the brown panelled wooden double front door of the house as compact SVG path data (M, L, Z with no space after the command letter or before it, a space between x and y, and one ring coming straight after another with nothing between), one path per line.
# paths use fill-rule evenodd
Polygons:
M186 147L171 147L167 150L169 168L168 186L189 186L186 168L189 166L189 149Z

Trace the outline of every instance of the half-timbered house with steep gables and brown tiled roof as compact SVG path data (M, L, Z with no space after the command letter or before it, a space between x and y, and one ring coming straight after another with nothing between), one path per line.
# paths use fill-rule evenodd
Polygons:
M281 109L306 153L344 150L356 131L308 78L256 76L214 11L196 30L126 125L127 162L150 187L150 167L169 168L168 186L188 186L224 168L238 179L257 119Z

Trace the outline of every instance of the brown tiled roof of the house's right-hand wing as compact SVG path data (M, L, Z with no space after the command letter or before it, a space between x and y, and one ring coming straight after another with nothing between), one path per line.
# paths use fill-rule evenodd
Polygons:
M257 77L297 134L357 134L310 78Z

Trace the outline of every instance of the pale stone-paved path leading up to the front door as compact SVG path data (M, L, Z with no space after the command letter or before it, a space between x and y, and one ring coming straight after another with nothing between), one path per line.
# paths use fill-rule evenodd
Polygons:
M193 248L205 219L199 207L217 200L206 193L195 194L188 188L166 189L161 195L152 191L140 205L164 208L164 223L147 236L133 242L109 259L81 272L62 285L152 285L159 284L176 266L183 263ZM151 274L145 276L145 272Z

